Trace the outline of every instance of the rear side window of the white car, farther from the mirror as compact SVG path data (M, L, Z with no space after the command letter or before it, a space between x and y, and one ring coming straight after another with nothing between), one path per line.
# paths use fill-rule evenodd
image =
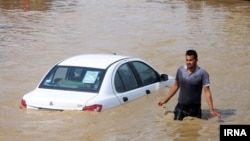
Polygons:
M115 74L115 89L125 92L138 87L136 78L128 64L122 65Z

